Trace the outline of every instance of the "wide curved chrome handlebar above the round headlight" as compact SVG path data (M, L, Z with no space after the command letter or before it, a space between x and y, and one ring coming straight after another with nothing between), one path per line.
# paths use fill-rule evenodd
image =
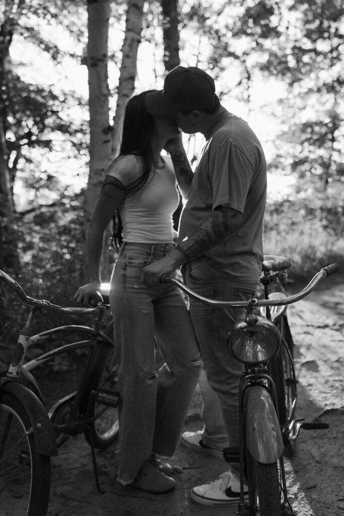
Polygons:
M255 307L273 307L277 306L280 307L285 304L291 304L295 303L296 301L300 301L304 297L306 297L310 292L313 291L313 289L318 285L318 283L325 278L326 276L331 276L338 270L338 265L336 263L333 263L331 265L327 265L327 267L324 267L321 269L317 274L310 280L308 285L297 294L294 294L293 296L288 296L284 298L279 299L261 299L261 300L249 300L249 301L217 301L215 299L208 299L207 297L200 296L199 294L196 294L193 292L190 288L188 288L182 281L177 280L176 278L170 278L170 276L165 275L161 276L160 282L161 283L173 283L178 288L180 288L185 294L188 294L188 296L197 299L198 301L217 305L217 306L225 306L225 307L248 307L249 305L254 304Z

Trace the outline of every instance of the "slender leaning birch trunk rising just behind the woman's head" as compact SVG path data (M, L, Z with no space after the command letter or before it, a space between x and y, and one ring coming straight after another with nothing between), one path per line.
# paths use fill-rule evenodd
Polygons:
M135 88L137 51L141 42L144 0L129 0L122 46L122 64L117 91L116 113L113 118L112 157L116 157L121 146L121 120L127 100Z

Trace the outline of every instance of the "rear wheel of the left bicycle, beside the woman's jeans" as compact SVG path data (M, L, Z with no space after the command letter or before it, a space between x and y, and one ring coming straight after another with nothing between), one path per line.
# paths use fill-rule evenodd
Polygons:
M96 372L94 376L97 376ZM116 390L117 361L114 349L110 352L100 377L99 385L94 389L94 399L91 401L89 412L91 421L89 431L85 432L85 438L94 448L105 449L119 438L119 393Z

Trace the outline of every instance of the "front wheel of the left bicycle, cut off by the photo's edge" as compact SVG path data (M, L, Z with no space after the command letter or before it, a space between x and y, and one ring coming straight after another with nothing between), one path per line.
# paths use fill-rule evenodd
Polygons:
M9 393L0 395L0 505L2 516L45 516L50 457L36 451L30 417Z

